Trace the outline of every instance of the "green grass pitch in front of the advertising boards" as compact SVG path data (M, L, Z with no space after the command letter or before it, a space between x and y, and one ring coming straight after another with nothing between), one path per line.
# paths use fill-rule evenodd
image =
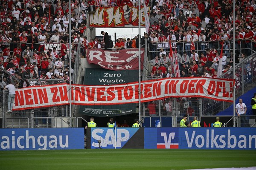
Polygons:
M182 170L256 167L256 150L0 151L0 170Z

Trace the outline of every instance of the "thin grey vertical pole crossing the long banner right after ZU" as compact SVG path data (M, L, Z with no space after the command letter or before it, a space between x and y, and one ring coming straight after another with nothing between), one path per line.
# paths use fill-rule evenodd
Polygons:
M72 89L71 89L71 71L72 71L72 65L71 65L71 0L69 0L69 4L68 4L68 6L69 6L69 77L70 77L70 82L69 82L69 88L70 88L70 90L69 90L69 105L70 105L70 117L72 117L72 115L71 115L71 112L72 112L72 108L71 108L71 106L72 106ZM80 57L80 56L79 56Z

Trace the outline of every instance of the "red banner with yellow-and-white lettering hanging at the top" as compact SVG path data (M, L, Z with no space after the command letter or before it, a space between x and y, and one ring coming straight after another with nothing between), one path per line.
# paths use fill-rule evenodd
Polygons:
M146 7L149 15L150 8ZM141 8L141 26L145 26L144 8ZM139 26L139 8L131 5L122 7L96 7L95 14L90 14L90 27Z

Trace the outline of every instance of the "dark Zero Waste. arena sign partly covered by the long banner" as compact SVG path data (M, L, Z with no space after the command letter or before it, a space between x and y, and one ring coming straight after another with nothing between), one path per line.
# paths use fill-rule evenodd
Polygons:
M116 85L138 81L137 70L108 70L104 68L85 68L84 85ZM90 116L121 116L136 112L136 103L123 105L80 106L80 113Z

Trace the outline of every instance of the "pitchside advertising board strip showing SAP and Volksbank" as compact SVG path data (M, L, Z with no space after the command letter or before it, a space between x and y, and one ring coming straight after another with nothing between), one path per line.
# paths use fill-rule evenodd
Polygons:
M90 139L90 140L88 140ZM87 147L255 150L256 128L91 128ZM143 143L142 143L143 141Z

